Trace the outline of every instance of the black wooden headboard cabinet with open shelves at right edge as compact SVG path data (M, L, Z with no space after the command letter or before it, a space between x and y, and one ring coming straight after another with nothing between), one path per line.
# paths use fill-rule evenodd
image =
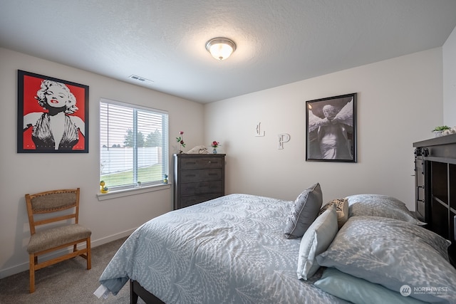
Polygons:
M426 228L451 241L456 266L456 134L414 142L416 215Z

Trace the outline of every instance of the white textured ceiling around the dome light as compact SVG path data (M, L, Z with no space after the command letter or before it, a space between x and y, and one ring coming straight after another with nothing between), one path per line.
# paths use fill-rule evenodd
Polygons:
M456 0L0 0L1 47L199 103L439 47L455 26ZM237 43L225 61L204 48L217 36Z

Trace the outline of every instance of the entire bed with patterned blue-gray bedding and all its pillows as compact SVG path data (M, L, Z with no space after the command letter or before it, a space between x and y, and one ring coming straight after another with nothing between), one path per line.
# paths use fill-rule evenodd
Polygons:
M449 243L423 224L389 196L323 204L319 184L295 201L229 194L140 226L97 293L130 282L131 303L455 303Z

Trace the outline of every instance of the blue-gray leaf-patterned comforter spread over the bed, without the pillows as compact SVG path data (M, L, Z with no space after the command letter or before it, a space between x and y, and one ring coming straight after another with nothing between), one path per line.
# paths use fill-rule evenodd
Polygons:
M147 221L100 276L165 303L345 303L296 275L301 239L285 239L293 201L230 194Z

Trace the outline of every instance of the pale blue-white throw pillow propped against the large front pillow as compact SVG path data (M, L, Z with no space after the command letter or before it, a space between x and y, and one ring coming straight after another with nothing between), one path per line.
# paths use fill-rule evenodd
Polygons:
M320 266L316 256L326 251L338 231L336 206L331 205L318 216L301 239L298 256L298 278L307 281Z

